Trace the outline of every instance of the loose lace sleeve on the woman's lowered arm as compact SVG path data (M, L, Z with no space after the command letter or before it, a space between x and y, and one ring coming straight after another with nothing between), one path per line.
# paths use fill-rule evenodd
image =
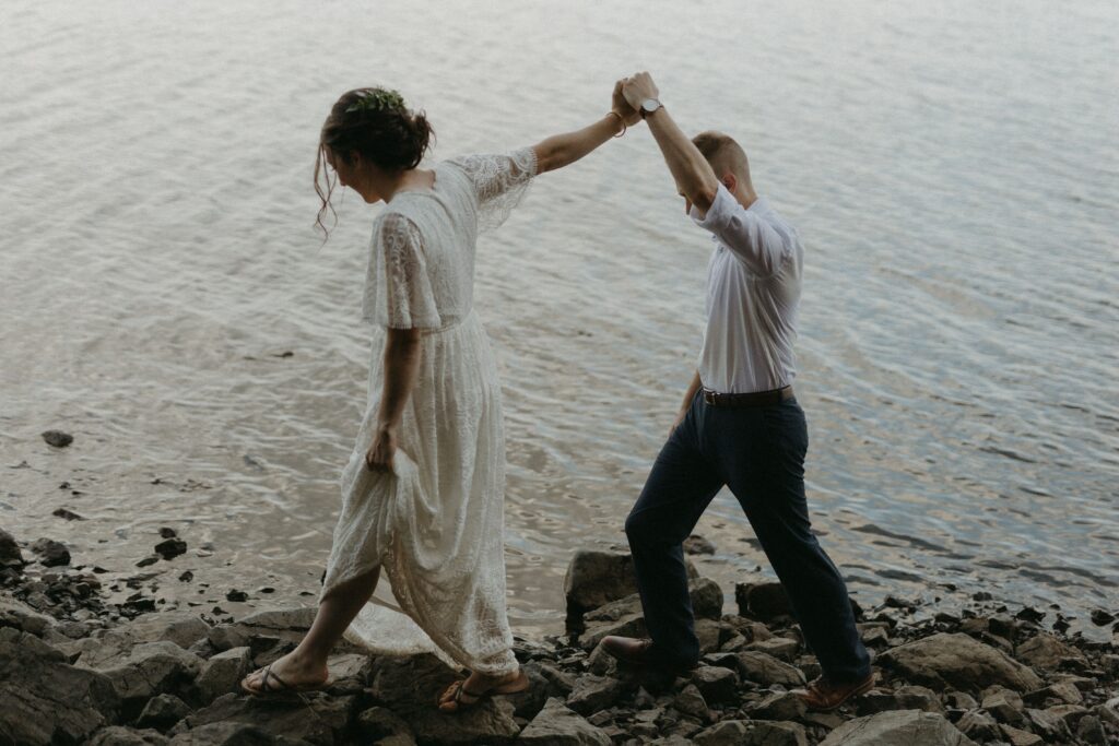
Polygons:
M442 325L423 236L403 215L387 214L374 228L363 317L392 329Z

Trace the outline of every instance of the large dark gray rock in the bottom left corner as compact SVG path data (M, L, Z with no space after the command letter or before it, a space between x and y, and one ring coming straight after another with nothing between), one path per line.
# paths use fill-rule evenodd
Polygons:
M0 740L82 743L116 718L112 682L70 665L35 635L0 629Z

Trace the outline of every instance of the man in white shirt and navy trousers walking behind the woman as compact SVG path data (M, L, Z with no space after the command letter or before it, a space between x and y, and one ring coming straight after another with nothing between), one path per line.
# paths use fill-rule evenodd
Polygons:
M610 636L603 646L659 672L696 664L681 542L726 484L824 671L800 695L814 709L835 709L869 690L874 674L847 588L811 531L805 500L808 431L790 387L803 248L754 192L746 154L734 140L716 132L688 140L648 73L623 81L622 93L657 140L689 216L717 247L698 369L626 520L651 640Z

